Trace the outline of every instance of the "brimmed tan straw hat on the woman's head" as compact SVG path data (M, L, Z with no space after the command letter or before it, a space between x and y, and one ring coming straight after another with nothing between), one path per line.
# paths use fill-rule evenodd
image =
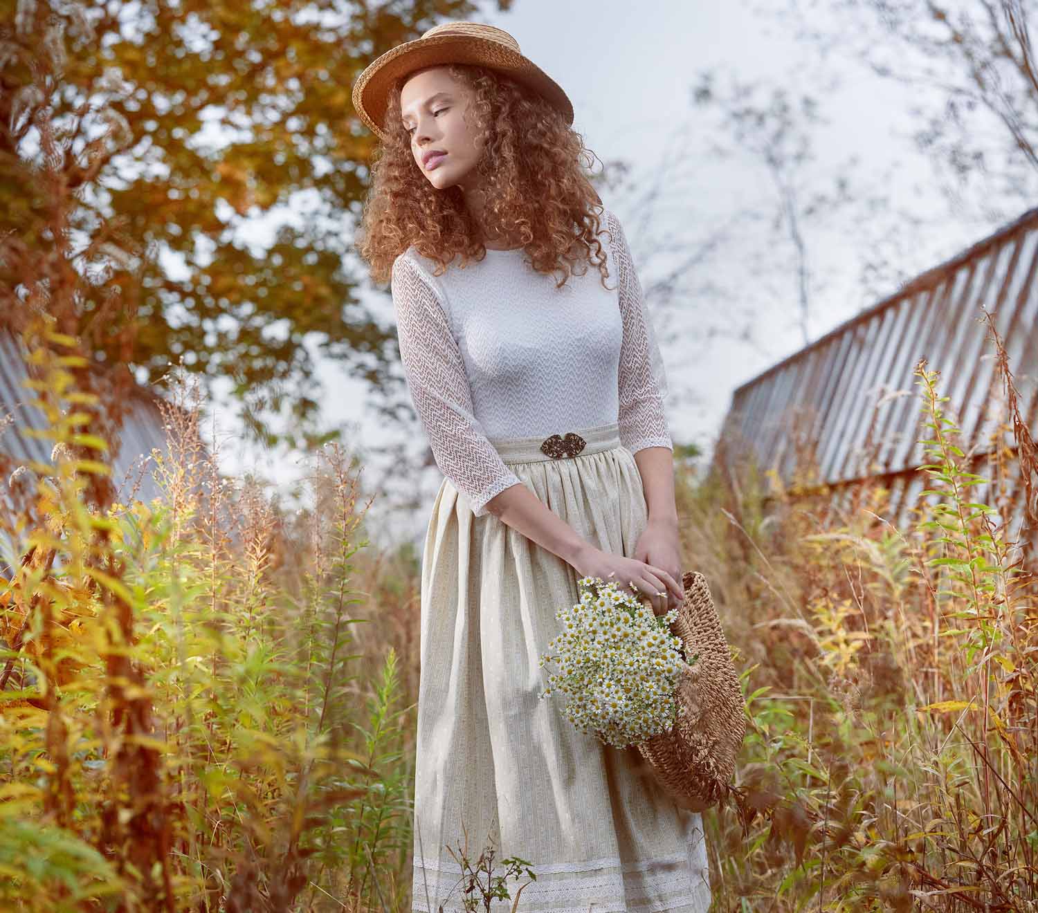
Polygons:
M444 22L420 38L386 51L353 84L353 107L385 142L389 135L383 121L393 80L424 66L445 63L473 63L502 73L543 95L567 123L573 123L573 105L562 87L519 52L519 43L507 31L479 22Z

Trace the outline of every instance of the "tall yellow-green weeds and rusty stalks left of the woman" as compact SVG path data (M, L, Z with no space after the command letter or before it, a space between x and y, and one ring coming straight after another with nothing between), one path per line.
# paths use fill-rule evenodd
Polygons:
M54 446L3 518L0 906L398 909L411 707L392 645L357 651L342 448L318 454L315 508L282 516L220 475L182 386L162 496L91 504L111 466L77 340L43 321L24 338Z

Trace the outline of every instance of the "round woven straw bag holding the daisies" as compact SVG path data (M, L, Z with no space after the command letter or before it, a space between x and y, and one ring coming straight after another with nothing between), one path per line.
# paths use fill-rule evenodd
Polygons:
M678 683L674 726L637 743L636 748L679 806L705 811L737 792L731 780L746 734L746 717L707 580L698 571L689 571L681 582L685 598L671 629L692 662L685 664Z

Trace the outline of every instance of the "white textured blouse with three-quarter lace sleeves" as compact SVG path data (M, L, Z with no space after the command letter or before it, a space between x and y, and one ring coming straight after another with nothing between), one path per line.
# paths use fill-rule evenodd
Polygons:
M411 402L436 465L476 517L522 483L491 439L565 437L614 421L632 453L674 449L663 360L627 239L611 211L602 224L608 289L590 264L556 288L521 248L488 250L464 269L452 262L441 276L413 247L393 262Z

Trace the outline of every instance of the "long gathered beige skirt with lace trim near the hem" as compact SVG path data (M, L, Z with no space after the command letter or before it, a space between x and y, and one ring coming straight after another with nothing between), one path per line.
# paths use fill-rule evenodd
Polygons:
M583 538L630 556L647 508L634 455L616 422L577 430L576 457L543 438L492 439L513 472ZM634 748L581 735L539 695L540 657L555 611L579 600L562 558L492 514L475 517L444 479L421 566L421 672L414 784L413 911L463 911L465 850L526 860L537 876L507 882L527 913L706 913L701 815L678 808L636 772ZM487 876L481 876L486 884ZM482 895L470 894L484 909ZM512 902L494 901L494 911Z

